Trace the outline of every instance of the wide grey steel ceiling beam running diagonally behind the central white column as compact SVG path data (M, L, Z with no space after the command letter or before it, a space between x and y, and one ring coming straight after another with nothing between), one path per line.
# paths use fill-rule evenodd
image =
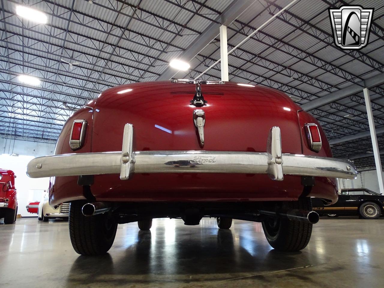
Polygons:
M185 49L179 58L186 62L189 62L194 58L205 46L207 46L213 39L219 35L219 28L221 25L228 26L233 22L237 17L240 16L248 7L250 7L255 0L244 0L244 1L233 1L231 5L225 9L225 11L216 18L215 22L211 23L204 30L203 33L193 41L187 49ZM177 73L174 69L168 67L157 80L168 80Z

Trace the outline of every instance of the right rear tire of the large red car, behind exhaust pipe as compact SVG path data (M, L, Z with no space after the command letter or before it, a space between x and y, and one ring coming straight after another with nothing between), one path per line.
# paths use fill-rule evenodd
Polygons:
M310 198L302 198L284 204L287 209L312 210ZM288 218L271 217L262 222L268 243L279 251L299 251L304 249L311 238L312 224L292 221Z

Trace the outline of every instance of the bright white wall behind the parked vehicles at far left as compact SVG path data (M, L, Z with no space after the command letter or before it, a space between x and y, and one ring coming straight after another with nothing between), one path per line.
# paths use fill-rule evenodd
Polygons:
M12 137L13 138L13 137ZM49 178L32 179L26 175L28 162L40 156L53 154L55 144L31 142L0 137L0 168L15 172L15 186L17 189L18 214L36 216L26 211L25 206L30 202L40 201L44 190L48 189ZM18 154L19 156L11 156Z

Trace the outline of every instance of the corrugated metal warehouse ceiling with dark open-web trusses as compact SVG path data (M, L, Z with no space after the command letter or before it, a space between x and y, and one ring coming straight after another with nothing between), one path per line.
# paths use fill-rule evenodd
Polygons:
M229 48L290 3L248 0L239 7L240 1L232 0L0 1L0 133L41 142L55 142L73 109L106 88L195 78L220 58L219 37L190 57L189 71L175 74L169 61L202 45L207 33L218 34L218 26L238 9L250 5L228 26ZM328 8L360 2L296 2L228 56L229 80L276 88L302 105L384 73L381 0L364 1L365 8L375 8L366 47L341 50L334 45ZM20 4L46 13L47 23L16 15ZM41 83L23 84L20 74L36 76ZM220 79L220 63L202 79ZM384 85L369 92L376 128L382 128ZM310 113L330 140L369 131L362 92ZM384 149L384 137L378 142ZM355 157L360 170L374 167L370 137L333 144L332 149L334 156Z

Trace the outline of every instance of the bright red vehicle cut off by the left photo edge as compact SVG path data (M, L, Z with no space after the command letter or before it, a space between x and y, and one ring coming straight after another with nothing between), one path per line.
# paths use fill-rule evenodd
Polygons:
M0 169L0 219L4 218L4 224L12 224L16 221L17 195L15 178L13 171Z

